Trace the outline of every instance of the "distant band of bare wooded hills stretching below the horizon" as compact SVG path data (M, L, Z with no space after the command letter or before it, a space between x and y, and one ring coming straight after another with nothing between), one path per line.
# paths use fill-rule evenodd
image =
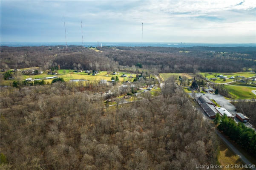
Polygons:
M39 66L49 69L83 68L111 70L119 67L137 67L154 72L238 72L243 68L256 70L253 48L220 48L229 51L244 51L242 54L230 52L210 52L192 48L167 47L117 47L98 48L100 52L69 46L54 47L1 47L1 68L27 68ZM240 49L241 48L241 49Z

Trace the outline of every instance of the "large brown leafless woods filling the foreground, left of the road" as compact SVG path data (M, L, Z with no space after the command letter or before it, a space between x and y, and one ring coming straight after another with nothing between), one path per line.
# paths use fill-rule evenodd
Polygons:
M1 157L8 169L194 170L216 164L213 123L181 89L104 108L65 84L1 88ZM150 95L149 95L150 96Z

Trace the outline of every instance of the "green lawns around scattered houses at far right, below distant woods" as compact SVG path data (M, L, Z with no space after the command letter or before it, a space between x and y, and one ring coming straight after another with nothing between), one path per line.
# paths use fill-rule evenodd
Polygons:
M223 75L223 76L227 76L227 78L230 78L231 76L244 76L244 77L253 77L255 76L256 74L253 73L253 72L249 72L249 71L244 71L244 72L237 72L237 73L212 73L212 74L209 74L208 72L207 73L200 73L202 76L204 76L204 74L207 74L207 78L210 80L210 78L214 78L215 75ZM215 82L216 83L224 83L223 79L219 79L219 77L216 77L218 78ZM226 79L225 82L232 82L234 81L234 79Z

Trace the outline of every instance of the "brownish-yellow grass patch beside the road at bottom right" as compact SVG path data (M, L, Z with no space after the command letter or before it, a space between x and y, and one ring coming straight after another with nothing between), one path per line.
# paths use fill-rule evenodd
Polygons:
M230 150L223 142L221 142L219 147L219 156L218 161L220 165L224 165L225 170L231 170L232 168L226 168L225 165L231 165L231 164L239 164L242 167L242 160L239 158L238 155L233 153L232 150ZM234 168L233 168L234 169ZM236 170L245 170L243 168L236 168Z

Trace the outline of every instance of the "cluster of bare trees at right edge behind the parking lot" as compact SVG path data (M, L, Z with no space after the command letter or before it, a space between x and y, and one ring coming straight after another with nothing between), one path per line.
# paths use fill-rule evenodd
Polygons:
M237 111L243 113L250 119L250 123L256 126L256 101L252 99L252 102L241 100L239 102L233 102Z

